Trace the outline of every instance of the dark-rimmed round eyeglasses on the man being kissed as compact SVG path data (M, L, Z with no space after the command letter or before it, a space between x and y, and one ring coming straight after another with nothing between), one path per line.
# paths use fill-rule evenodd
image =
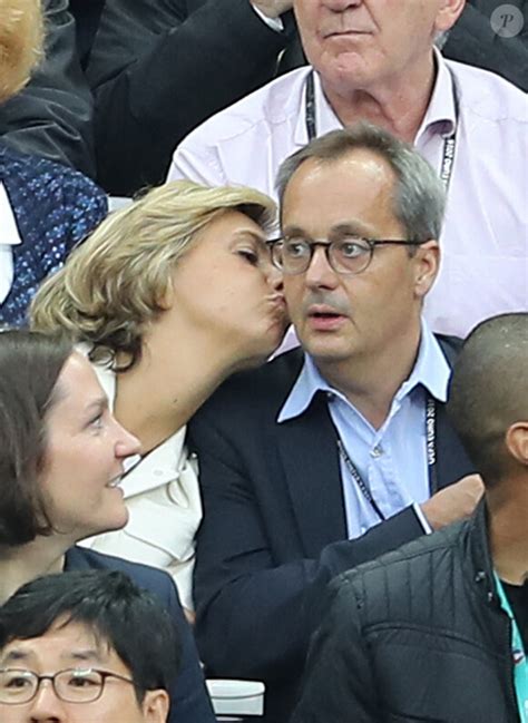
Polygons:
M285 236L266 242L272 251L272 262L284 274L303 274L307 271L317 246L324 248L326 261L338 274L361 274L374 254L377 246L420 246L426 241L404 238L362 238L340 236L327 241L315 241L302 236Z

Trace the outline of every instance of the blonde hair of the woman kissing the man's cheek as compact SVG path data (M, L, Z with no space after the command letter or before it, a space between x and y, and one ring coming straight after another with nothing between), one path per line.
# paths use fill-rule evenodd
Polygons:
M268 231L275 204L245 187L206 188L177 180L110 214L33 299L31 328L88 342L90 359L129 369L145 325L163 311L177 261L197 233L226 211Z

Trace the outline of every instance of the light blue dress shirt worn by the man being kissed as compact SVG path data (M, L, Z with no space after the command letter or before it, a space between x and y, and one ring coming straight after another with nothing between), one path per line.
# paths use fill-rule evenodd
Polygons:
M302 414L317 391L327 394L329 410L339 437L385 518L413 506L430 531L419 505L430 497L426 439L427 392L446 402L451 370L436 338L422 322L417 362L409 379L392 400L380 429L359 412L340 391L320 374L305 354L303 369L292 388L277 422ZM426 392L427 390L427 392ZM349 539L360 537L380 519L358 487L343 459L341 480Z

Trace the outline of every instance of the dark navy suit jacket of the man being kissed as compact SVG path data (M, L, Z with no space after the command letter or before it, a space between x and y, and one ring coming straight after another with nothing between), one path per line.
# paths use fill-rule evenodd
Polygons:
M204 502L194 588L198 649L209 675L265 681L266 720L274 723L291 712L326 583L423 534L409 507L346 540L325 397L275 422L301 365L294 350L233 377L189 426ZM473 471L443 408L437 457L439 487Z

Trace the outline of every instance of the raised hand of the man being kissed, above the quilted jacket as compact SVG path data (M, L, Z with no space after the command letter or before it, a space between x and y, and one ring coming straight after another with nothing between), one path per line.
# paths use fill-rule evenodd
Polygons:
M480 475L468 475L454 485L441 489L420 507L429 525L436 530L469 517L482 494L483 483Z

